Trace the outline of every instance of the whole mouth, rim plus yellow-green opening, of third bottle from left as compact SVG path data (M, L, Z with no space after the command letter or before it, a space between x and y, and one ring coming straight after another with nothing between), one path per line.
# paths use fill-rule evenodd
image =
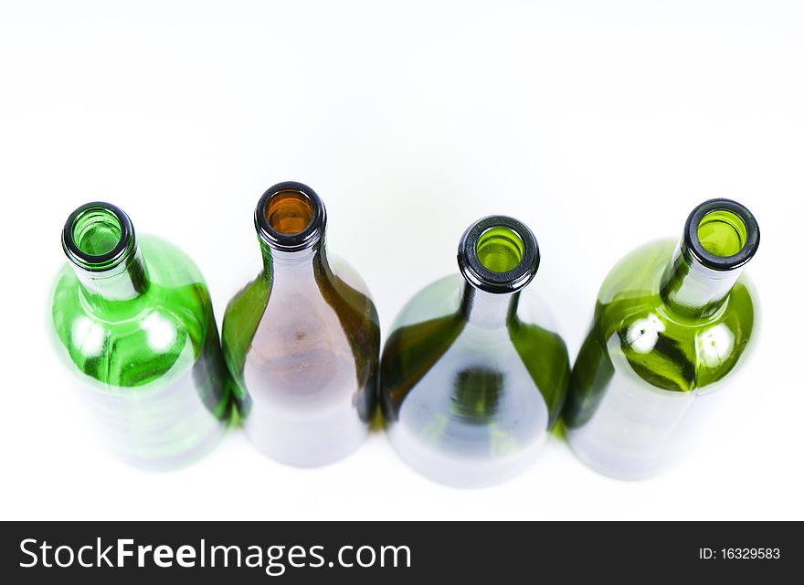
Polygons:
M539 246L521 221L506 216L481 218L467 229L458 247L464 278L488 293L514 293L534 278Z

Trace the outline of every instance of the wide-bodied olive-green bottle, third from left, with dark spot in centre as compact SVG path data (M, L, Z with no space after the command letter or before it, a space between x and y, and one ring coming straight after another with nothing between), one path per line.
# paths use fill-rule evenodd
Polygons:
M525 288L539 249L523 223L475 222L460 239L458 266L397 316L383 351L381 404L407 463L471 487L531 463L564 402L569 358L545 304Z

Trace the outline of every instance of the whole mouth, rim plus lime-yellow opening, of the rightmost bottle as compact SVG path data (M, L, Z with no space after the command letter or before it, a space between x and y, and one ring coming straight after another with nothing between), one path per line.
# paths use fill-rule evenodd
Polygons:
M710 199L693 209L684 229L693 259L715 271L739 268L756 253L759 226L747 207L731 199Z

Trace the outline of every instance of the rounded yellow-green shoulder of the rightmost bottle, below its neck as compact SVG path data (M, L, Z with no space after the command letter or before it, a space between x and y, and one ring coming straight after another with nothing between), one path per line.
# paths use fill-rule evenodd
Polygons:
M652 386L690 391L715 384L741 362L755 334L756 305L741 277L715 314L693 319L674 313L659 293L673 250L672 239L651 242L609 272L593 335L615 365Z

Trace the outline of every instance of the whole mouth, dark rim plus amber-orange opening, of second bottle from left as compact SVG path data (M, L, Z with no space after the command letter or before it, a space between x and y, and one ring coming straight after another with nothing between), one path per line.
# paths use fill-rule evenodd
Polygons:
M277 250L309 248L321 238L325 221L321 197L294 181L270 187L254 210L259 238Z

